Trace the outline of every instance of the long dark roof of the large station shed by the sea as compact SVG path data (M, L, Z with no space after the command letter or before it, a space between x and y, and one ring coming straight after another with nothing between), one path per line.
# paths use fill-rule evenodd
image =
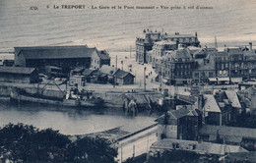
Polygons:
M23 54L26 59L88 58L94 52L96 48L89 48L87 45L15 47L15 54Z

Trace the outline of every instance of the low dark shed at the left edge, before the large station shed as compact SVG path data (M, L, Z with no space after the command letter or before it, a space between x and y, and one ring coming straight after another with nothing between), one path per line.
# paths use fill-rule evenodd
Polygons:
M0 81L34 83L39 81L39 76L34 68L0 66Z

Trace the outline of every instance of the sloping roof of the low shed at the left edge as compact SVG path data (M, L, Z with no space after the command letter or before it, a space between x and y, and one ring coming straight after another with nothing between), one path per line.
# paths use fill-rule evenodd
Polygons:
M0 67L0 73L11 73L11 74L26 74L30 75L35 68L23 68L23 67Z

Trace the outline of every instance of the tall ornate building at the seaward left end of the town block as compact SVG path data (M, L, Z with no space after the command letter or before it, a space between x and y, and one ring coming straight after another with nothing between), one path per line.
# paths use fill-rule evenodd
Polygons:
M154 42L160 41L160 32L144 29L143 33L136 38L136 61L147 63L147 51L152 50Z

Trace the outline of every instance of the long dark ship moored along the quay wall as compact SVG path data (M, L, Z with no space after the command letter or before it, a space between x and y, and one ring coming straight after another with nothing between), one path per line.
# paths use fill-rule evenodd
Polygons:
M78 91L78 90L77 90ZM74 94L74 90L67 91L66 95L47 96L43 93L32 93L24 88L14 87L11 90L10 100L18 103L34 102L49 105L70 106L70 107L100 107L103 100L99 97L94 97L92 92L82 94Z

